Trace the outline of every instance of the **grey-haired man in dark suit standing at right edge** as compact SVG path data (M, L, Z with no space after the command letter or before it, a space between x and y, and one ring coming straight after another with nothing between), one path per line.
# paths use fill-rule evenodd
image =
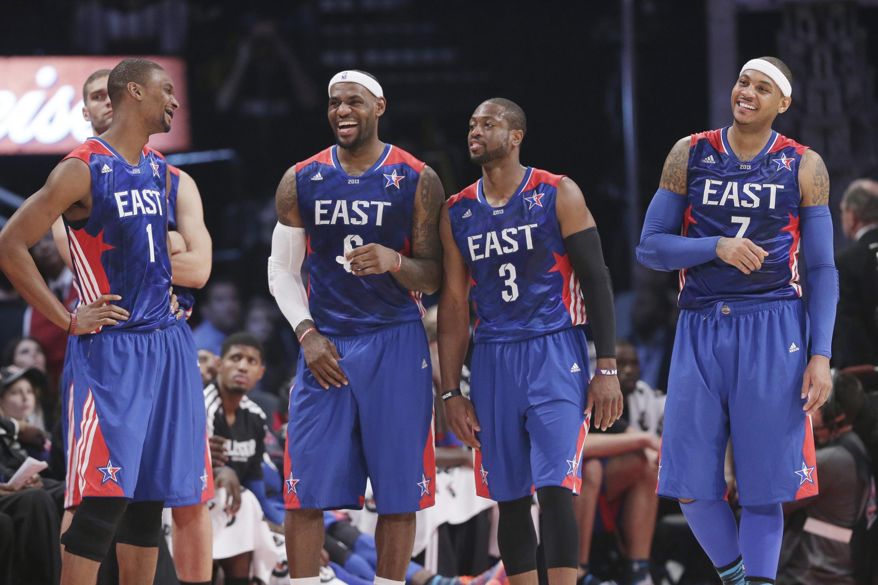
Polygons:
M853 243L835 255L833 366L878 366L878 182L858 179L848 186L841 199L841 226Z

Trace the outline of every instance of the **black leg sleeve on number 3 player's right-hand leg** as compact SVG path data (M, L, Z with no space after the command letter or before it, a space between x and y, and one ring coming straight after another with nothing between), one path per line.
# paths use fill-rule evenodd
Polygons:
M573 511L573 494L560 486L536 490L543 514L543 548L546 568L579 567L579 525Z

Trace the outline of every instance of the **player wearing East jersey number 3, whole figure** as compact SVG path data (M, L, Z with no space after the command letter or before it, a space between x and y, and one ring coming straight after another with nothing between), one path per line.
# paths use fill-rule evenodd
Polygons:
M582 191L519 162L526 130L522 109L502 98L470 119L470 160L482 178L443 208L439 369L451 430L476 449L476 492L500 503L498 544L510 583L536 585L536 489L549 581L572 585L579 568L572 493L582 482L588 413L606 429L623 407L613 289ZM472 402L460 391L470 291L479 317ZM586 336L574 326L586 313L597 350L591 384Z

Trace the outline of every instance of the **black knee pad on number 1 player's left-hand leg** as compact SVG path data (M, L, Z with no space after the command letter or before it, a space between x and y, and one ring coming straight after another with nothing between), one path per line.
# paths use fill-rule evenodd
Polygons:
M77 557L104 562L129 501L127 497L83 497L70 527L61 535L64 550Z

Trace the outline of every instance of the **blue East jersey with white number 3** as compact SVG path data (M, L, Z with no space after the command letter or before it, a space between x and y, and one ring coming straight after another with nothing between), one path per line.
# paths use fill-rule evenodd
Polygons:
M586 322L555 199L563 175L528 168L506 205L492 207L482 180L448 201L451 232L470 267L474 341L521 341Z

